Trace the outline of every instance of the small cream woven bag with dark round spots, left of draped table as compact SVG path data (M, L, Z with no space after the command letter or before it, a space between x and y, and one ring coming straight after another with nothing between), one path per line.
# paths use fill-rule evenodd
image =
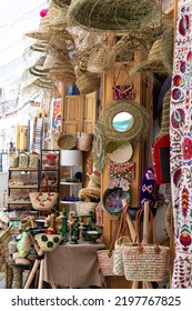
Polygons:
M59 234L39 233L34 235L41 251L51 252L61 243L63 238Z

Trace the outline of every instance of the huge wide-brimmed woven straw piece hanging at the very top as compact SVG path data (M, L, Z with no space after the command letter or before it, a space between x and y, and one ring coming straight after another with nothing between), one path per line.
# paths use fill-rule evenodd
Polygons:
M68 16L71 26L101 30L131 30L161 13L155 0L73 0Z

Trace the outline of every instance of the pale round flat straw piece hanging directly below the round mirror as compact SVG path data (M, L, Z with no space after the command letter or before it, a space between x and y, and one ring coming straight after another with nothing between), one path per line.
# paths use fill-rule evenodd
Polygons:
M115 163L124 163L131 159L133 154L133 149L131 143L119 147L111 153L108 153L108 157L111 161Z

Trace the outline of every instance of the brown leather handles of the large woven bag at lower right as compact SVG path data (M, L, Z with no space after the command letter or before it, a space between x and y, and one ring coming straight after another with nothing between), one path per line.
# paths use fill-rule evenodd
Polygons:
M144 212L144 210L140 209L137 212L137 217L135 217L135 231L137 231L137 240L138 240L139 252L143 251L143 248L142 248L142 244L141 244L141 239L140 239L140 221L141 221L141 215L142 215L143 212ZM154 250L155 250L155 252L159 252L160 248L159 248L159 242L158 242L158 238L156 238L156 234L155 234L154 217L153 217L153 213L152 213L151 209L149 209L149 214L150 214L150 220L151 220L151 242L153 243L153 239L154 239L154 241L155 241Z

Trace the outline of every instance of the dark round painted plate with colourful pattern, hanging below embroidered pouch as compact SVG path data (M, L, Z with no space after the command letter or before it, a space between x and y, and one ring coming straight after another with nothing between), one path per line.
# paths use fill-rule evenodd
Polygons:
M131 200L130 191L123 191L122 188L107 189L103 193L103 207L111 213L117 214L123 210L122 199L127 199L128 204Z

